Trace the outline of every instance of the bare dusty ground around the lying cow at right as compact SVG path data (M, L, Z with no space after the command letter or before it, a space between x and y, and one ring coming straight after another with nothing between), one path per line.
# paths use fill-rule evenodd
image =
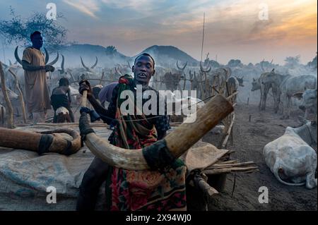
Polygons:
M209 210L317 210L317 188L307 190L304 186L293 187L279 183L264 162L264 145L285 132L286 126L298 126L297 116L301 111L293 111L288 120L281 120L272 109L259 111L256 105L239 103L235 107L233 142L227 149L235 150L232 159L241 162L254 161L259 172L254 174L236 174L235 190L232 195L234 174L228 174L225 190L209 200ZM249 115L252 115L249 122ZM205 141L213 142L210 136ZM317 149L316 149L317 150ZM269 189L269 203L260 204L259 187Z

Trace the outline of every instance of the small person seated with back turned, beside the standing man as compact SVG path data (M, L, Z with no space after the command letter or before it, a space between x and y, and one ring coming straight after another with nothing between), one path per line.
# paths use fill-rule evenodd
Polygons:
M64 107L69 111L71 122L74 122L73 111L71 111L71 89L69 88L69 80L61 78L59 87L55 87L51 95L51 104L54 109L53 123L57 123L57 109Z

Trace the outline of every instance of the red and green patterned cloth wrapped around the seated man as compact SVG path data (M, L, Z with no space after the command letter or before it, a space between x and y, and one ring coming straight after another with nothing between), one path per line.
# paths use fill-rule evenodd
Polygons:
M129 75L119 78L119 92L134 89ZM144 115L123 116L119 109L125 99L117 98L116 118L112 144L126 149L140 149L157 141L157 131ZM136 108L136 104L135 108ZM135 109L136 111L136 109ZM138 121L135 121L138 120ZM107 209L134 210L186 210L185 176L187 168L177 159L164 171L131 171L112 167L106 182Z

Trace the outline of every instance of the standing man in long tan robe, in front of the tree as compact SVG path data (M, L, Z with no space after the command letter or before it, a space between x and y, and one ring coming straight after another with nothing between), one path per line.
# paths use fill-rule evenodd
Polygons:
M30 39L32 47L27 47L23 51L22 66L25 74L25 98L28 112L33 116L33 123L37 123L44 122L47 109L51 109L46 72L53 72L54 67L45 65L45 56L40 51L43 45L41 33L33 32Z

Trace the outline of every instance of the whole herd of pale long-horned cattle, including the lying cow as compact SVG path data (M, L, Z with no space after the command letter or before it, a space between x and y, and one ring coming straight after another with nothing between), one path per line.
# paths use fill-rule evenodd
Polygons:
M130 63L117 64L112 68L98 66L98 58L89 66L84 63L81 56L78 61L81 67L67 68L63 55L57 54L56 58L49 63L49 53L45 51L45 62L57 66L53 73L47 73L49 90L57 87L60 78L70 80L73 104L79 105L81 97L78 93L78 82L88 79L91 85L101 89L102 86L117 81L125 74L131 73ZM16 80L9 70L16 74L18 87L24 90L24 71L18 56L18 47L15 51L16 63L3 64L5 73L6 89L9 98L18 99ZM61 58L59 57L61 56ZM182 65L181 65L182 64ZM212 68L209 63L199 63L197 66L188 66L187 62L175 62L176 68L156 66L156 73L151 80L151 85L156 90L196 90L197 99L190 99L197 104L213 95L231 95L239 91L238 97L246 92L260 92L259 110L266 109L266 100L269 91L273 97L273 113L281 114L281 119L290 118L293 110L293 102L298 102L297 107L303 111L302 126L298 128L287 127L285 133L264 146L264 160L274 176L285 185L300 186L307 188L317 187L317 152L312 145L317 145L317 68L300 66L288 68L266 62L264 60L253 65L238 65L235 67L221 66ZM298 71L298 74L295 74ZM247 85L248 84L248 85ZM252 85L252 90L247 90ZM248 86L248 87L247 87ZM180 99L174 99L179 101ZM295 108L294 108L295 109ZM0 94L1 121L6 117L6 102L2 92ZM311 116L311 120L307 120Z

